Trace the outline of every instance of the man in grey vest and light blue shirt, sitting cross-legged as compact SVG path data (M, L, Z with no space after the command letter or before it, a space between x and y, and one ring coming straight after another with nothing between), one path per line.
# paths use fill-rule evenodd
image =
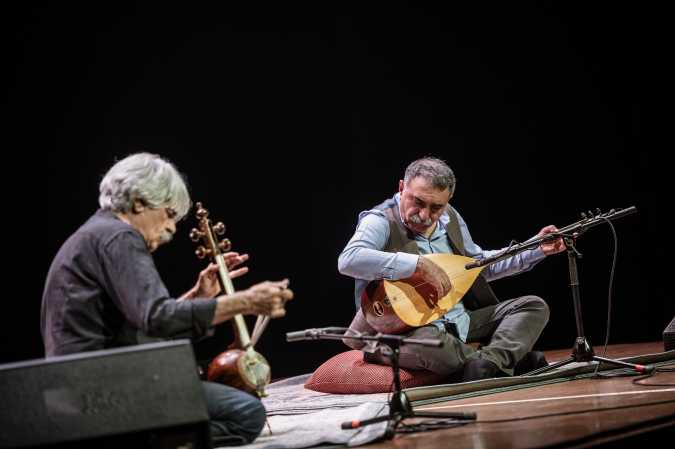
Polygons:
M455 176L444 161L419 159L406 169L398 193L359 215L356 232L338 260L340 273L356 280L358 310L350 331L375 333L360 310L361 294L370 281L416 275L442 298L450 291L451 280L438 265L420 255L453 253L484 258L497 252L474 243L464 219L448 204L454 190ZM546 226L537 235L555 231L555 226ZM464 381L522 374L545 365L543 354L532 347L548 321L547 304L536 296L499 302L488 281L528 271L547 255L564 249L562 239L555 239L483 269L469 294L447 314L407 334L440 339L443 346L404 345L400 365L443 375L462 373ZM364 347L357 340L344 342L354 349ZM476 349L468 344L472 342L482 346ZM366 360L389 363L380 351L366 353Z

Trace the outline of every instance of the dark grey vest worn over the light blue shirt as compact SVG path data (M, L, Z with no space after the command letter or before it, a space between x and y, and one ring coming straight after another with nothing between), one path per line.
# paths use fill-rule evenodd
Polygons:
M379 206L376 206L374 209L384 212L387 220L389 220L389 240L384 246L383 251L390 253L399 251L409 254L420 253L412 231L405 227L401 221L401 214L399 213L398 207L396 206L396 201L394 201L393 198L389 198ZM462 238L462 233L459 230L459 219L457 218L457 214L449 205L446 207L446 211L450 216L450 221L445 228L448 236L448 243L455 254L466 256L464 239ZM482 307L491 306L497 304L498 302L499 300L497 299L497 296L492 291L492 288L485 280L485 277L482 275L482 273L476 278L476 281L471 286L471 289L462 299L464 307L469 310L476 310Z

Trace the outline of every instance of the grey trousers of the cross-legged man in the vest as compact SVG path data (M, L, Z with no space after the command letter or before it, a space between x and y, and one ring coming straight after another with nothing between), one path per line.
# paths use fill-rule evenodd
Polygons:
M482 358L493 362L505 374L513 375L516 363L532 350L546 326L549 309L546 302L537 296L522 296L482 309L467 310L467 313L470 324L466 343L454 335L453 329L440 329L435 324L419 327L406 336L440 339L443 346L440 348L401 346L399 356L401 367L451 375L462 369L467 360ZM358 313L357 318L359 315L361 314ZM361 318L362 322L357 323L357 318L354 319L351 328L360 332L365 331L363 328L365 320ZM365 323L365 326L368 324ZM480 349L468 344L475 342L481 344ZM349 345L355 348L353 344ZM367 354L366 360L390 365L389 358L379 350Z

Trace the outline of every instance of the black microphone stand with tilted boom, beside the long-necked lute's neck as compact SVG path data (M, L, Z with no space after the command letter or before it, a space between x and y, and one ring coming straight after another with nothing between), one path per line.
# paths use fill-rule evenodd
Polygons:
M558 230L558 232L546 234L542 237L531 238L524 243L513 245L507 248L502 253L486 257L484 259L477 260L475 262L471 262L465 266L467 270L471 268L482 267L485 265L495 263L499 260L511 257L514 254L520 253L522 251L534 249L544 242L552 241L558 238L563 239L565 247L567 248L567 261L570 274L570 288L572 290L572 301L574 304L574 318L577 326L577 337L574 342L572 354L570 355L569 358L562 360L560 362L552 363L548 366L544 366L534 371L530 371L529 373L525 373L526 375L533 376L536 374L541 374L559 368L561 366L567 365L572 362L591 362L591 361L604 362L623 368L632 368L635 371L642 374L647 374L654 370L653 365L638 365L634 363L626 363L620 360L613 360L605 357L596 356L595 352L593 351L593 348L591 347L590 343L586 340L586 337L584 336L584 322L581 315L581 294L579 290L579 273L577 271L577 260L581 259L582 255L574 246L577 237L586 232L591 227L608 222L609 220L633 214L635 212L637 212L637 209L635 208L635 206L632 206L627 209L619 211L612 209L606 214L600 213L599 210L595 214L593 212L582 213L581 216L583 219L581 221L566 226Z

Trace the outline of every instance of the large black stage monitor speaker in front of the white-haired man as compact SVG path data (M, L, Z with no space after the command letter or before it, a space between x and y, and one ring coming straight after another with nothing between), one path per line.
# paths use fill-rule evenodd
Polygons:
M188 340L0 365L0 447L210 446Z

